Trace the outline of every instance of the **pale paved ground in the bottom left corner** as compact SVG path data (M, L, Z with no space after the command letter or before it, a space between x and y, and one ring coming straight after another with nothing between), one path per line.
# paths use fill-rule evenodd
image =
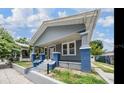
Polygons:
M32 84L27 78L12 68L0 69L0 84Z

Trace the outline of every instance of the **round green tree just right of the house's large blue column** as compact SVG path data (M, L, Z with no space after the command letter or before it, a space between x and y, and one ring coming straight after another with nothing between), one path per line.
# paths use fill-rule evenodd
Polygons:
M104 53L103 43L101 40L94 40L90 42L91 54L92 55L101 55Z

